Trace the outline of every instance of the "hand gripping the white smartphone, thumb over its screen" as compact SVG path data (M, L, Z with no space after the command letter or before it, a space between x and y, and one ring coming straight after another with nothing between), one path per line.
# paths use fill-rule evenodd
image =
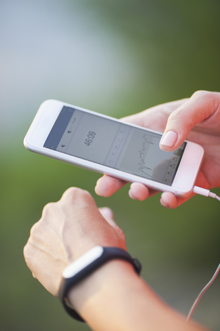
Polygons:
M205 159L196 185L207 189L220 186L220 93L197 91L190 99L164 103L125 117L123 121L164 132L160 142L162 150L176 150L186 139L199 143L205 150ZM165 139L167 132L173 133L168 133ZM124 184L126 182L104 175L98 179L95 190L98 195L109 197ZM156 193L141 183L131 183L129 190L129 196L140 201ZM166 208L176 208L193 195L179 198L164 192L160 202Z

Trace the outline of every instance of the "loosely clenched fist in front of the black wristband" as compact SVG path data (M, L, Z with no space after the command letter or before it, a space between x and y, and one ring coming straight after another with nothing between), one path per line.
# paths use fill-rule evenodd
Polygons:
M126 250L124 234L113 221L111 210L98 210L89 192L69 188L60 201L43 209L24 256L33 276L57 297L64 268L96 245Z

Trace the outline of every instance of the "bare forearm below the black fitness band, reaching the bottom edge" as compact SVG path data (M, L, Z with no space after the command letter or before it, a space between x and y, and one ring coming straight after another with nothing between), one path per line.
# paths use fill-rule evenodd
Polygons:
M69 301L96 331L199 331L168 307L125 261L111 261L69 292Z

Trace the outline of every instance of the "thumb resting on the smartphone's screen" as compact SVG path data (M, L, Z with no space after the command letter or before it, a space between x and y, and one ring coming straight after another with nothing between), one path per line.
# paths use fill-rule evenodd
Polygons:
M159 147L164 151L176 150L186 140L190 130L208 119L220 106L218 92L197 91L168 117Z

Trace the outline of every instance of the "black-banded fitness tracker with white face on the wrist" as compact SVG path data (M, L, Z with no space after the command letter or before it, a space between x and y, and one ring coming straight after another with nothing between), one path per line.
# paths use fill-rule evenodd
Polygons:
M128 261L133 265L135 272L140 274L142 265L137 259L133 259L129 253L121 248L115 247L102 247L95 246L88 252L79 257L76 261L63 270L63 279L59 290L59 298L63 303L65 310L68 314L77 319L78 321L84 322L82 317L74 310L67 301L67 293L76 283L85 279L91 272L98 269L101 265L112 259L122 259Z

